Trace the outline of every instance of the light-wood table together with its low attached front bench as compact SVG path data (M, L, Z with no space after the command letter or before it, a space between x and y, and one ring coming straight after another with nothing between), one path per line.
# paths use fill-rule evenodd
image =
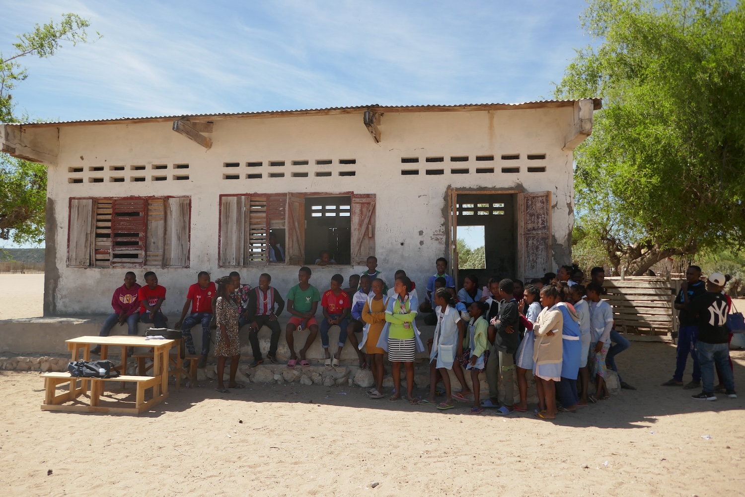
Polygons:
M168 397L168 354L178 344L176 340L147 340L139 335L115 335L109 337L86 336L66 341L72 352L72 361L90 361L91 346L101 345L101 359L106 359L110 346L121 347L121 364L115 367L121 376L110 379L75 378L69 373L45 373L45 411L104 412L109 414L139 414L145 409L162 402ZM127 376L127 347L153 348L153 376ZM177 382L180 371L177 371ZM57 385L70 383L68 392L56 395ZM80 382L80 387L77 386ZM137 384L136 405L134 408L108 408L99 405L98 399L104 391L106 382L135 382ZM145 389L153 389L153 398L145 402ZM90 390L90 405L63 405L75 400Z

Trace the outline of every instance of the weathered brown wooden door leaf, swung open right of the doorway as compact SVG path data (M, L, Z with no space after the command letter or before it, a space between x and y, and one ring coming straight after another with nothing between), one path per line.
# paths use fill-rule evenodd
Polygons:
M523 281L551 270L551 191L518 194L519 273Z

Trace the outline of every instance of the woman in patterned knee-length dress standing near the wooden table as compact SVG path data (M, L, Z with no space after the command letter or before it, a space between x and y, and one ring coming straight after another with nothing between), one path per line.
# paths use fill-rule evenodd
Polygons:
M215 357L218 359L218 387L220 393L230 393L223 383L225 361L230 358L229 388L244 388L246 385L235 382L238 361L241 360L241 342L238 339L238 303L230 297L235 291L230 276L218 279L218 298L215 302L215 317L218 329L215 333Z

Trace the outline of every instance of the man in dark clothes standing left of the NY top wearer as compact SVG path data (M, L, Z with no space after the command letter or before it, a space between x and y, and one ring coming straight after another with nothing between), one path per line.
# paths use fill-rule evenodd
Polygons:
M701 367L696 354L696 339L698 336L698 324L696 315L691 314L688 306L701 294L706 293L704 282L701 281L701 268L688 266L685 271L685 281L680 285L680 293L675 298L673 306L679 311L678 314L678 346L676 349L676 364L673 378L663 383L663 387L683 387L686 389L701 386ZM683 386L683 373L688 355L694 360L693 381Z

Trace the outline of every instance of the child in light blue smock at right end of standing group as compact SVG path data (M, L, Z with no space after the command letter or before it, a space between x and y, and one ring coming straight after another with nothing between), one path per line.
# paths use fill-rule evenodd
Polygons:
M590 379L595 380L595 393L588 397L592 403L610 399L606 387L606 355L608 354L610 330L613 328L613 310L605 300L600 300L603 287L591 282L587 285L587 300L590 307L590 343L589 364Z

